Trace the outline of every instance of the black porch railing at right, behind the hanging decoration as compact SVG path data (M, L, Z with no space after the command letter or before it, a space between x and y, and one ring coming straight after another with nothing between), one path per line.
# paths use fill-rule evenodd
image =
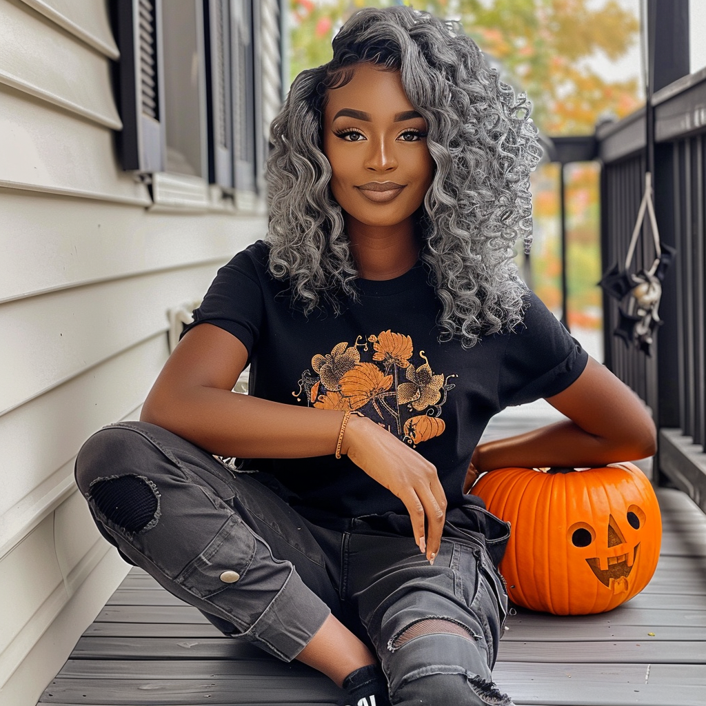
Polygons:
M605 361L652 408L659 469L706 510L706 69L655 92L650 108L652 158L646 109L597 128L602 264L604 271L625 265L650 162L659 233L676 258L663 282L663 325L651 357L613 335L618 302L604 297ZM643 225L631 273L654 261L649 228Z

